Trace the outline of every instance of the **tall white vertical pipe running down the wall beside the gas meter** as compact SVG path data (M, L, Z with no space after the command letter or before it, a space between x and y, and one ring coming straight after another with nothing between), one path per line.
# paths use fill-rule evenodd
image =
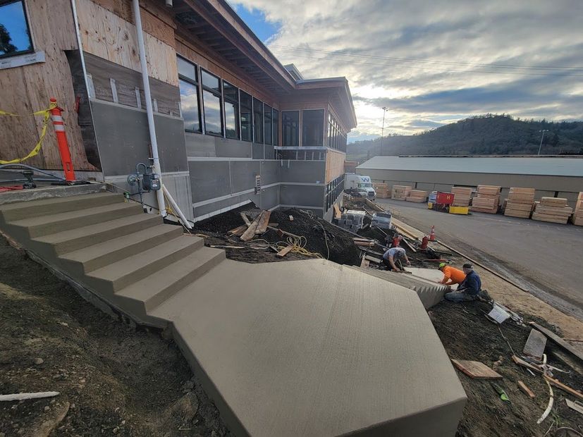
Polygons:
M140 16L140 1L133 0L133 13L135 20L135 29L137 32L137 47L140 49L140 68L142 69L142 82L144 84L144 94L146 100L146 113L148 116L148 128L150 143L152 144L152 161L154 164L154 173L160 177L162 183L162 171L160 167L160 158L158 156L158 142L156 140L156 127L154 125L154 108L152 107L152 93L149 89L148 66L146 63L146 48L144 45L144 34L142 31L142 17ZM166 203L164 202L164 193L162 190L157 190L156 198L158 201L158 209L162 217L166 217Z

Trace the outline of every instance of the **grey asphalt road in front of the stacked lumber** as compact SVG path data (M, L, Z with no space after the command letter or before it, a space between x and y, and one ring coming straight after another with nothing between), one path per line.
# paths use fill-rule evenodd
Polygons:
M446 214L416 204L377 199L395 217L483 262L541 300L583 321L583 226L501 214ZM487 289L487 284L484 284Z

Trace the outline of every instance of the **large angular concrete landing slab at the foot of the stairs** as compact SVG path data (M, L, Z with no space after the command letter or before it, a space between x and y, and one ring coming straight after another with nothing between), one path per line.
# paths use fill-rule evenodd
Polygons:
M240 436L453 436L465 392L417 294L324 260L223 261L167 319Z

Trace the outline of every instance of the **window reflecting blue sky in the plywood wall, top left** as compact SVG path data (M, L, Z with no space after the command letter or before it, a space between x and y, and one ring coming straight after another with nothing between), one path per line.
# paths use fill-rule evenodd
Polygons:
M0 1L0 58L32 51L24 2Z

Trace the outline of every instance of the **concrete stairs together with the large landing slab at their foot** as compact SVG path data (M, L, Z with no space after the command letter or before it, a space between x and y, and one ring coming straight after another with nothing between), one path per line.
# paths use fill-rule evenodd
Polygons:
M455 434L465 393L415 291L321 259L231 261L121 195L1 203L42 262L171 327L235 435Z

